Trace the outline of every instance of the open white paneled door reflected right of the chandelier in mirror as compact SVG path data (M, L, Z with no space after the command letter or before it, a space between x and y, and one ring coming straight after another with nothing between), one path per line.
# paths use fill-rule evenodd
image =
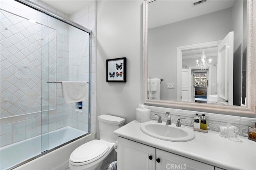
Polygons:
M233 105L233 53L234 32L228 35L218 45L218 103Z

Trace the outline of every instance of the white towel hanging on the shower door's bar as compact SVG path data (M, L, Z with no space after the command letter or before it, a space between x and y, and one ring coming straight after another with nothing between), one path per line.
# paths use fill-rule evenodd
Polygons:
M86 101L87 81L62 81L62 97L66 104Z

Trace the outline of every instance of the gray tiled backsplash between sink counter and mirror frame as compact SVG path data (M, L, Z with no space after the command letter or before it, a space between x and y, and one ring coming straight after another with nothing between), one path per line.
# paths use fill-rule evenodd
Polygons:
M166 117L165 113L170 112L172 123L177 123L177 120L179 118L186 118L186 120L181 121L181 124L189 127L193 127L193 118L196 115L196 113L198 113L199 117L202 117L202 114L205 114L206 120L208 122L208 130L218 132L220 130L220 126L236 126L240 129L240 135L246 137L248 136L248 127L254 126L254 123L256 122L256 119L247 117L220 115L215 113L204 113L155 106L145 106L145 108L150 109L150 119L158 120L158 116L154 115L154 113L156 113L161 115L162 121L166 121L169 117Z

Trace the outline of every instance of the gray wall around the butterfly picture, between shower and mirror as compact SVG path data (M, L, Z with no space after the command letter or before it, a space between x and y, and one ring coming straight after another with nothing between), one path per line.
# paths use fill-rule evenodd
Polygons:
M143 101L141 15L142 1L97 2L97 116L136 119ZM127 82L106 83L106 59L119 57L127 58Z

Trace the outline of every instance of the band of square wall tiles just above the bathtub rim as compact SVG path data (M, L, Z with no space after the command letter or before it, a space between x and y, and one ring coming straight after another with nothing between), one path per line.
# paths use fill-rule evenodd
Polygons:
M71 107L72 108L72 107ZM75 108L73 108L75 109ZM2 118L0 146L16 143L66 126L88 132L88 114L78 111L31 113Z

